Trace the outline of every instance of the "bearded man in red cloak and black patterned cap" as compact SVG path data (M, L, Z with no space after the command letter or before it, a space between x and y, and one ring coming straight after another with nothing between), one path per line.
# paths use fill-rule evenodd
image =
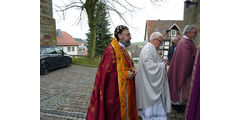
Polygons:
M137 120L136 69L126 50L131 45L128 27L119 25L105 49L95 77L87 120Z

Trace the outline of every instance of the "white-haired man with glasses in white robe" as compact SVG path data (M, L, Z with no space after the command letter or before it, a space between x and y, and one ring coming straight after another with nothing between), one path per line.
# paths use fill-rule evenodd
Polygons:
M162 42L161 33L152 33L139 56L136 101L143 120L167 120L167 113L171 111L166 64L157 52Z

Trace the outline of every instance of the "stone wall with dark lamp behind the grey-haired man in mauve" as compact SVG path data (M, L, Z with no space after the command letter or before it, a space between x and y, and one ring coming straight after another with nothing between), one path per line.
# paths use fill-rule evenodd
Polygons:
M184 5L184 20L183 26L185 27L188 24L195 24L198 27L198 34L196 40L194 40L195 45L200 43L200 0L192 0L193 2L197 2L198 5L190 5L186 8Z

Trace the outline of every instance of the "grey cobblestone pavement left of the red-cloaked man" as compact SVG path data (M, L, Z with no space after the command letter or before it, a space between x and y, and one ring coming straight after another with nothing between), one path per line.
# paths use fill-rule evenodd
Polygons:
M72 65L40 76L41 120L84 120L97 72Z

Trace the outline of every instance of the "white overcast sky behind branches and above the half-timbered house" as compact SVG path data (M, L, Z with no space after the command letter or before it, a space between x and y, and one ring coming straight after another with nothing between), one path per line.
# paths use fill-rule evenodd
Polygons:
M71 0L64 0L68 3ZM183 20L184 0L162 0L160 6L154 6L150 0L128 0L133 5L142 8L133 14L126 14L125 18L129 25L132 40L131 42L142 42L144 40L144 32L146 20ZM156 0L158 1L158 0ZM160 0L161 1L161 0ZM60 13L56 13L56 5L62 5L61 0L52 0L53 2L53 17L56 20L56 28L66 31L74 38L86 39L86 33L89 30L87 24L87 15L83 14L82 22L77 25L77 20L80 15L80 10L69 9L65 20L62 19ZM126 25L115 14L111 13L112 22L110 32L114 32L116 26Z

